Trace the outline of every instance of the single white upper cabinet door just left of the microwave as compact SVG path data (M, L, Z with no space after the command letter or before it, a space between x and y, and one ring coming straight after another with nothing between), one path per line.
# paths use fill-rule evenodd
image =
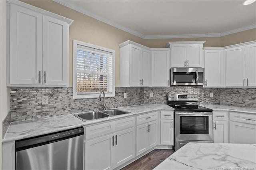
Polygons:
M170 51L152 51L152 86L169 87Z

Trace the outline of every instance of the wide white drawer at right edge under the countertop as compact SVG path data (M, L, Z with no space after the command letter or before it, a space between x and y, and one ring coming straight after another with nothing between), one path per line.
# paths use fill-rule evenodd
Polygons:
M230 112L230 121L249 123L256 125L256 115L246 113Z

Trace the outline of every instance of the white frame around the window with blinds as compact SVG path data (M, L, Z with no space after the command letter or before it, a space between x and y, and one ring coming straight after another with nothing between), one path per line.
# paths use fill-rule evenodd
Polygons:
M83 98L98 98L100 95L100 92L98 94L80 94L78 95L76 93L76 76L77 76L77 66L76 66L76 51L77 51L77 45L83 45L86 47L94 48L94 49L99 49L102 51L108 51L112 53L112 66L113 66L113 73L112 73L112 93L105 93L105 97L115 97L115 50L101 47L98 45L90 44L90 43L85 43L85 42L80 42L78 40L73 40L73 98L74 99L83 99ZM102 95L103 96L103 95Z

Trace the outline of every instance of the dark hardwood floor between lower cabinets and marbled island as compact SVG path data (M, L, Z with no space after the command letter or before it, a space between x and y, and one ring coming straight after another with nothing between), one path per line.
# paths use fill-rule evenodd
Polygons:
M152 170L173 153L174 150L155 149L121 170Z

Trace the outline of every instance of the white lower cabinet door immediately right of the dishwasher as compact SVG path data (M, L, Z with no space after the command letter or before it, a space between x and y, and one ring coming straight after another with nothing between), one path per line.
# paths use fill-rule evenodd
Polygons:
M85 142L85 169L112 170L114 169L113 134ZM100 161L100 162L99 162Z

